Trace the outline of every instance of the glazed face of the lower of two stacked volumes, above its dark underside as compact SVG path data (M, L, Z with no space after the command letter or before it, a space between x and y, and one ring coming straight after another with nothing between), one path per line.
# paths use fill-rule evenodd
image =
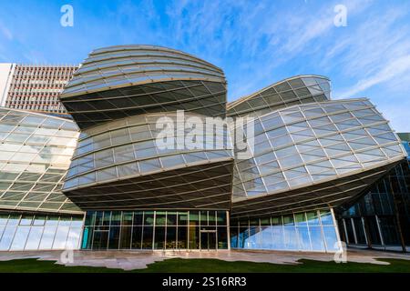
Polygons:
M196 117L205 124L202 115ZM144 176L181 167L198 166L220 161L231 161L233 152L228 129L212 132L212 140L223 140L221 146L207 147L206 135L201 146L189 149L185 145L170 145L169 148L157 146L162 134L157 128L159 118L169 118L175 129L172 133L177 142L190 133L177 130L176 113L137 115L120 119L109 125L97 125L83 132L78 141L67 179L65 191L96 185L98 182L113 182L118 179Z

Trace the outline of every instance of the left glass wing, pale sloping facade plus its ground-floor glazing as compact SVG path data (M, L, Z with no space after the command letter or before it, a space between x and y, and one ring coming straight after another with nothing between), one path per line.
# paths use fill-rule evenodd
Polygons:
M61 192L73 121L0 107L0 251L77 248L84 212Z

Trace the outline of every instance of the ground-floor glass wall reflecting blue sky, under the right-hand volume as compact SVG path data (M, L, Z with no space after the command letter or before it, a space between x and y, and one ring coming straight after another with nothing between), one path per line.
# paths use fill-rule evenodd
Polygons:
M333 252L336 226L330 210L231 222L231 247Z

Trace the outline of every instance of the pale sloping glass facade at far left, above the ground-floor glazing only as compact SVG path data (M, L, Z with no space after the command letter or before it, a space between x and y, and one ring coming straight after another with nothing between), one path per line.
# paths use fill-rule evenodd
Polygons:
M83 214L61 193L78 135L70 120L0 108L0 209Z

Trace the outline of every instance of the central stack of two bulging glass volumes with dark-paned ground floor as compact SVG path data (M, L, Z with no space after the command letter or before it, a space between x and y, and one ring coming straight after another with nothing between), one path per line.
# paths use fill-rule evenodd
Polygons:
M225 117L220 68L168 48L108 47L88 56L60 99L81 128L63 191L87 211L83 247L228 248L228 128L211 136L221 146L204 139L192 149L177 128L180 110L200 123ZM174 147L156 143L164 117L176 125Z

